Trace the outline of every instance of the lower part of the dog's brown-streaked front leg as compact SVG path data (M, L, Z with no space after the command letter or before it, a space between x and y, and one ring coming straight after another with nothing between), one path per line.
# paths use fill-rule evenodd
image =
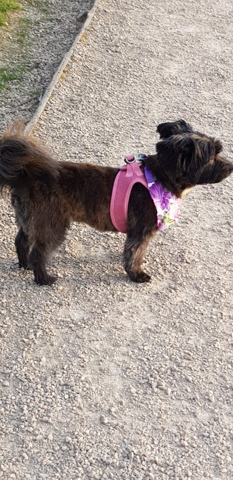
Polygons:
M127 234L123 259L124 267L133 282L150 282L150 275L142 270L141 265L152 236L151 231L142 231L136 236L130 232Z

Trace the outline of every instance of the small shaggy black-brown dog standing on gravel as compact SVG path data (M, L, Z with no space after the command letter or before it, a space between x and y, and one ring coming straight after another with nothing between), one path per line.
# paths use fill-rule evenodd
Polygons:
M141 168L177 198L195 185L220 182L233 171L233 164L220 156L221 143L183 120L160 124L157 131L162 139L157 153L146 157ZM117 172L109 166L57 161L25 136L22 126L13 126L0 138L0 190L11 191L19 267L31 267L37 284L55 282L46 263L64 241L71 221L116 231L110 200ZM132 188L127 221L125 269L134 282L148 282L150 276L141 265L158 225L149 190L140 183Z

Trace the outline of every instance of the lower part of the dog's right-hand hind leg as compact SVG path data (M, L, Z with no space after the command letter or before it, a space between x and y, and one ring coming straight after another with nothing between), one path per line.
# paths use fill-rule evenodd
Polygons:
M46 263L51 249L44 243L36 241L29 256L29 263L33 268L35 283L38 285L51 285L56 282L57 277L48 275Z

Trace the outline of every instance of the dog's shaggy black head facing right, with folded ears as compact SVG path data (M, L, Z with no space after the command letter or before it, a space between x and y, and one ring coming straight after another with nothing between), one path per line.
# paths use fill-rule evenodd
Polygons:
M220 155L221 142L194 131L184 120L160 124L157 130L163 139L156 145L159 164L182 189L217 183L233 172L233 163Z

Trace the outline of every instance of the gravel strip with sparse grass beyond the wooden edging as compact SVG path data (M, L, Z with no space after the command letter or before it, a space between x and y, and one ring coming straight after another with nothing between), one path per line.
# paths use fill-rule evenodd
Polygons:
M8 27L0 28L1 69L16 79L0 89L0 132L18 118L30 120L51 78L81 30L93 0L20 0Z

